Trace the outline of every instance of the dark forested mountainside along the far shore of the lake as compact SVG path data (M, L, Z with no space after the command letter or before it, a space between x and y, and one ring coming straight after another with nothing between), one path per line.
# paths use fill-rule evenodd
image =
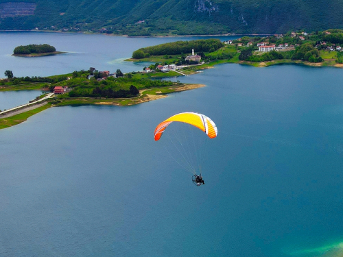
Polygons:
M343 0L0 0L0 16L2 30L269 34L343 28Z

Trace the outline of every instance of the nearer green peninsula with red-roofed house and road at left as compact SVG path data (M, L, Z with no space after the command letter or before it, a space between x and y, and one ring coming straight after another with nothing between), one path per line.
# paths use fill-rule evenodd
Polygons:
M65 75L50 77L14 77L12 71L5 71L7 79L0 79L0 91L5 90L47 90L28 105L15 110L0 110L0 130L22 123L38 112L54 106L69 105L115 105L134 104L167 97L169 93L200 88L200 84L181 84L165 80L135 77L134 73L123 74L97 71L74 71Z

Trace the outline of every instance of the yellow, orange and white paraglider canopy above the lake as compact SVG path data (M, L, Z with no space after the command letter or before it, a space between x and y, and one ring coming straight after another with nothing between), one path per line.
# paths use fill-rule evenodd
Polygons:
M154 132L154 138L156 141L160 140L163 132L165 132L165 129L170 123L174 121L188 123L190 125L198 127L200 130L205 132L205 134L209 136L209 138L215 138L218 134L217 126L209 117L196 112L182 112L171 116L170 118L157 125Z

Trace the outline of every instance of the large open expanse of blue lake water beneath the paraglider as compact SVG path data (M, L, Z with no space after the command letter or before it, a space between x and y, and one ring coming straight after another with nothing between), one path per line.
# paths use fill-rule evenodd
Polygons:
M343 70L222 64L175 79L206 87L0 131L0 256L342 254ZM169 127L153 136L185 111L218 127L200 187L168 155Z

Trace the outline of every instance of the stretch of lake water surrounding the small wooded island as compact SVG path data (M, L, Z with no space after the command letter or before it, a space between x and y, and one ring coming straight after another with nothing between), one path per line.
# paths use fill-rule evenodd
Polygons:
M67 74L95 67L99 71L115 72L142 71L148 63L124 62L131 58L133 51L151 45L178 40L196 40L209 37L191 36L174 38L126 38L89 34L60 34L43 32L0 32L0 77L10 70L16 77ZM220 40L239 38L239 36L217 36ZM15 47L29 44L49 44L62 55L23 58L11 56Z

